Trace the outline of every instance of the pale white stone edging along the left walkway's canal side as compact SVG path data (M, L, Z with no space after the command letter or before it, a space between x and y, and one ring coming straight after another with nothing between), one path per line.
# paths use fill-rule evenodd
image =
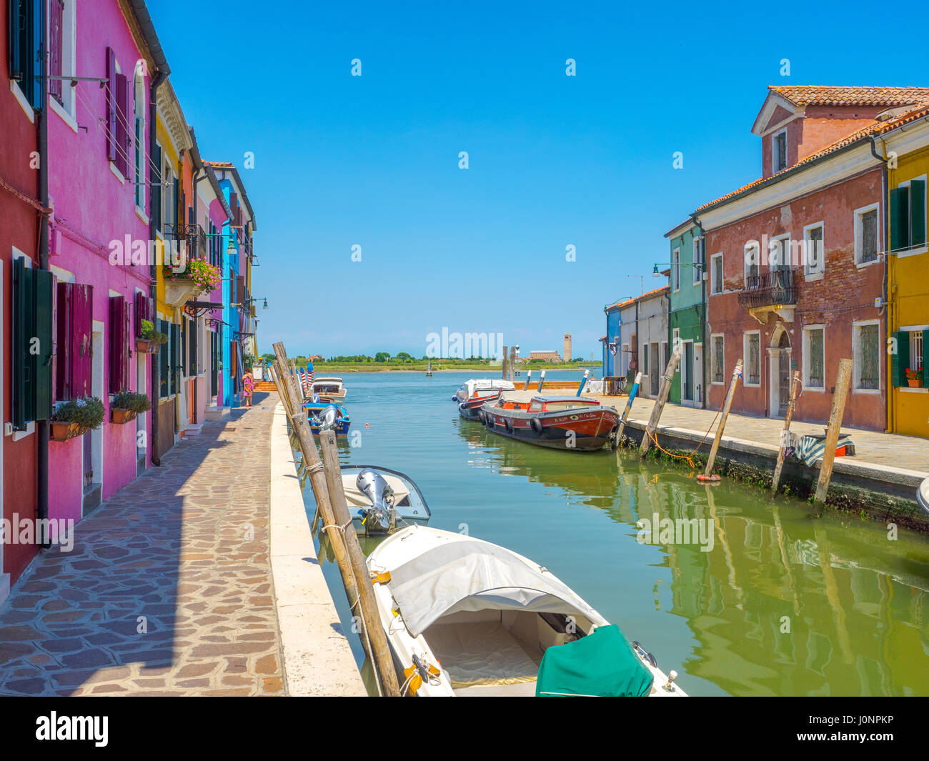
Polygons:
M280 401L271 426L270 479L270 562L287 694L366 696L313 545Z

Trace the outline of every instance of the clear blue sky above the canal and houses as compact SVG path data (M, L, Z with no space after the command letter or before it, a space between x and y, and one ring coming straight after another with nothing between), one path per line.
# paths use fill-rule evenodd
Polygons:
M926 6L817 6L149 3L203 157L255 152L262 352L423 356L445 326L596 358L664 233L760 176L767 85L929 85Z

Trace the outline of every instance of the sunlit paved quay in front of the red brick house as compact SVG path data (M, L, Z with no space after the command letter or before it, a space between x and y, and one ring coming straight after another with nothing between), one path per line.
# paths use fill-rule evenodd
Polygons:
M605 397L588 394L594 399L615 407L622 413L627 397ZM633 402L629 419L648 423L655 401L650 399L636 399ZM702 433L713 423L716 410L697 410L692 407L683 407L679 404L667 404L661 411L661 426L674 426L688 428ZM726 436L734 439L757 441L762 444L778 446L780 432L784 428L783 418L752 417L752 415L730 413L726 420ZM791 423L791 430L797 434L822 435L825 426L815 423L802 423L796 420ZM883 433L880 431L867 431L861 428L842 426L844 433L848 433L855 442L856 455L849 461L861 465L872 464L877 466L902 467L906 470L917 470L929 475L929 440L918 439L914 436L900 436L898 434ZM715 426L713 426L715 431ZM711 434L708 444L713 441ZM707 449L709 447L707 446Z

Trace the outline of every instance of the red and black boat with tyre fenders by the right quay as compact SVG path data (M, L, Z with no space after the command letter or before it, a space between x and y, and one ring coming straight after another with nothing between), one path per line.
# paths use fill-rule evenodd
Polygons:
M620 413L584 397L532 397L486 402L480 419L494 433L540 447L590 452L611 442Z

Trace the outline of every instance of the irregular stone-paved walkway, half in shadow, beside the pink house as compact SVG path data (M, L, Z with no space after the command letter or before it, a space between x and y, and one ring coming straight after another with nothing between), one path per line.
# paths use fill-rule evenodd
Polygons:
M0 694L284 693L268 562L275 394L205 423L33 561L0 607Z

